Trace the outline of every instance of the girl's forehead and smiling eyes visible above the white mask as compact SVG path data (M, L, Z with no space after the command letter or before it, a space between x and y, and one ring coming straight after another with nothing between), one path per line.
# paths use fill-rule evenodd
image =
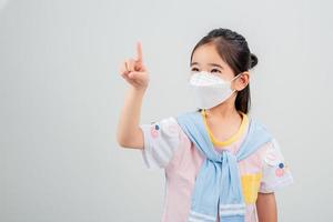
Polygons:
M212 43L203 44L194 51L191 61L191 71L212 72L228 81L234 78L232 69L222 60Z

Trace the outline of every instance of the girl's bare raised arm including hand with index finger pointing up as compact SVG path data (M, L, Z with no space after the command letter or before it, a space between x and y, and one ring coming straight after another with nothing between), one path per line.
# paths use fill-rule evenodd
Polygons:
M129 83L123 109L120 114L117 140L123 148L143 149L143 133L139 128L140 112L149 74L143 64L141 43L137 44L137 59L128 59L120 67L120 74Z

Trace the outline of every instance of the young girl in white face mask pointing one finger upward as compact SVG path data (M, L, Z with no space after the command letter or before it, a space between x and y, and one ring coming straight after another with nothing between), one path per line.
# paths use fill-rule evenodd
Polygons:
M246 40L214 29L191 54L198 111L139 124L148 88L141 44L120 73L130 83L118 142L140 149L148 168L165 170L163 222L276 222L274 191L292 183L274 137L249 115L250 72L258 63Z

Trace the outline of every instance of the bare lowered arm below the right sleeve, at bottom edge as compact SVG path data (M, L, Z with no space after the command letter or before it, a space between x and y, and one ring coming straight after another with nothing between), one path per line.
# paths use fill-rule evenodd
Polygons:
M259 193L256 200L259 222L278 222L274 193Z

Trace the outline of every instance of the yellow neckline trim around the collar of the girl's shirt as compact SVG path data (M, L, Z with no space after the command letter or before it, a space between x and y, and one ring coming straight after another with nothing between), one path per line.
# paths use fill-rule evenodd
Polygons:
M240 137L243 134L244 130L245 130L245 127L248 125L249 123L249 118L245 113L241 112L243 119L242 119L242 123L241 123L241 127L239 129L239 131L233 134L231 138L229 138L228 140L225 141L219 141L218 139L215 139L215 137L213 135L213 133L211 132L208 123L206 123L206 113L205 113L205 110L202 110L201 111L201 114L203 117L203 122L204 122L204 127L210 135L210 139L212 141L212 143L215 145L215 147L225 147L225 145L230 145L231 143L235 142L238 139L240 139Z

